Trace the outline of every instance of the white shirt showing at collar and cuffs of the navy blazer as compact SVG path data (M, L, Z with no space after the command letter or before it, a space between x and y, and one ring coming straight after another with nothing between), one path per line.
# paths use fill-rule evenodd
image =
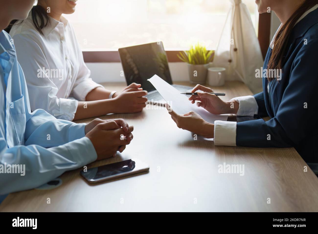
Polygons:
M296 24L301 21L306 15L311 11L315 11L318 8L318 4L306 11L301 18L298 19ZM295 25L296 25L295 24ZM282 24L279 26L277 32L282 27ZM275 33L273 40L270 43L271 49L274 47L274 42L276 39L277 32ZM267 84L268 92L268 84ZM258 113L258 105L253 96L242 96L235 97L230 100L237 101L239 103L239 110L237 112L238 116L254 116ZM227 145L227 146L236 146L236 124L237 122L221 121L217 120L214 122L214 145Z

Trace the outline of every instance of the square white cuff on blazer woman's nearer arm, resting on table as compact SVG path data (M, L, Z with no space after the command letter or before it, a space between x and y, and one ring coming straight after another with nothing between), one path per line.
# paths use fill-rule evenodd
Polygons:
M214 121L214 145L236 146L236 122Z

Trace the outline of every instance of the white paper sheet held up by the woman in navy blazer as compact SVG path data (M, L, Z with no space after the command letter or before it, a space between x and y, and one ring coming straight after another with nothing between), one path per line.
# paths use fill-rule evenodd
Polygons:
M163 99L169 104L169 106L174 110L177 114L183 115L190 111L195 111L199 114L205 121L214 124L215 120L227 120L227 116L223 115L213 115L202 107L198 107L196 104L192 104L188 98L189 96L180 94L176 88L171 86L169 83L162 80L159 76L154 75L150 79L149 82L157 89L157 91L161 94Z

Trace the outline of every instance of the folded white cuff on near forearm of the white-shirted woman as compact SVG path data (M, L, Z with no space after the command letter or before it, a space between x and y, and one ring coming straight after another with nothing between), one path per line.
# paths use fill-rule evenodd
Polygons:
M52 114L57 119L72 121L77 110L78 101L68 98L59 98L59 111L52 110Z

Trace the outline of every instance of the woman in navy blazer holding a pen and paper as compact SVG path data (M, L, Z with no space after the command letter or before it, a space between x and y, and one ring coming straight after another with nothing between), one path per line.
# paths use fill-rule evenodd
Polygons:
M249 113L271 119L211 124L195 112L169 113L178 127L214 138L215 145L295 147L307 163L317 163L318 104L314 97L318 89L318 0L256 0L256 4L259 13L270 7L282 22L268 48L263 68L275 69L276 76L265 72L263 92L254 96L223 102L207 93L211 89L197 85L192 92L200 89L204 93L189 100L198 101L198 106L212 114Z

